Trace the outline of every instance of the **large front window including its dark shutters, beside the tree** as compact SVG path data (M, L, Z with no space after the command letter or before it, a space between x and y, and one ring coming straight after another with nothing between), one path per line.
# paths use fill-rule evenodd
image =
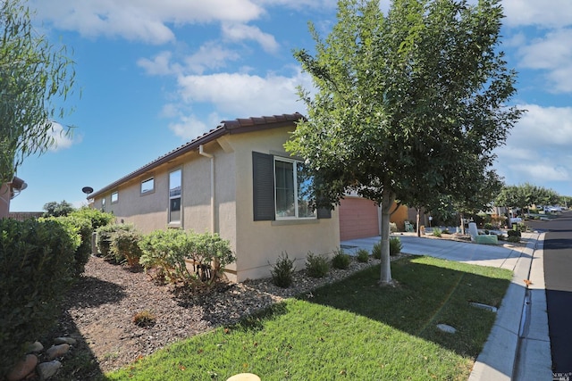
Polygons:
M252 171L255 221L332 217L329 209L310 209L314 183L305 173L303 162L253 152Z

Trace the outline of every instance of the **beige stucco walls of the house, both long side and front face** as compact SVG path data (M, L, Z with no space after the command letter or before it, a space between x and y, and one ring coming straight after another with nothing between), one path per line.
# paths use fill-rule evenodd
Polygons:
M227 135L219 142L205 145L204 151L214 155L214 231L231 243L236 263L228 266L227 276L233 281L269 277L271 266L282 253L298 259L303 269L308 252L332 253L340 244L337 211L331 219L298 221L254 221L252 152L282 153L283 143L292 128ZM198 152L187 153L174 162L120 186L117 203L106 197L105 211L111 211L117 222L133 223L143 233L168 226L169 172L182 170L182 228L198 233L212 230L211 159ZM155 192L140 195L140 182L155 178ZM101 208L101 199L94 200Z

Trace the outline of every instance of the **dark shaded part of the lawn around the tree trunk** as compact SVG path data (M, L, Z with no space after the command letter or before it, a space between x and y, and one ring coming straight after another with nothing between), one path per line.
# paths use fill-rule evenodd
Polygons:
M463 356L482 351L496 314L470 302L500 307L509 271L431 257L393 261L391 271L396 287L379 286L380 267L374 266L316 289L311 298L299 298L379 321ZM457 333L444 333L438 324L455 327Z

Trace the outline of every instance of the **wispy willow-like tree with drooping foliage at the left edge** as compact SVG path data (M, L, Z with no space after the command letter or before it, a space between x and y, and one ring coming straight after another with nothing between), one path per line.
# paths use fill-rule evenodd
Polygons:
M38 34L25 0L0 1L0 184L24 158L55 144L54 120L68 112L57 104L74 79L65 46Z

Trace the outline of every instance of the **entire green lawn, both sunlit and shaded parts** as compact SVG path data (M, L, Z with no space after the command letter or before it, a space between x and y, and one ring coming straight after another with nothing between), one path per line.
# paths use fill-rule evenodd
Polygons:
M173 344L106 375L109 380L466 380L499 307L509 270L431 257L394 261L300 295L240 324ZM436 325L457 328L454 335Z

